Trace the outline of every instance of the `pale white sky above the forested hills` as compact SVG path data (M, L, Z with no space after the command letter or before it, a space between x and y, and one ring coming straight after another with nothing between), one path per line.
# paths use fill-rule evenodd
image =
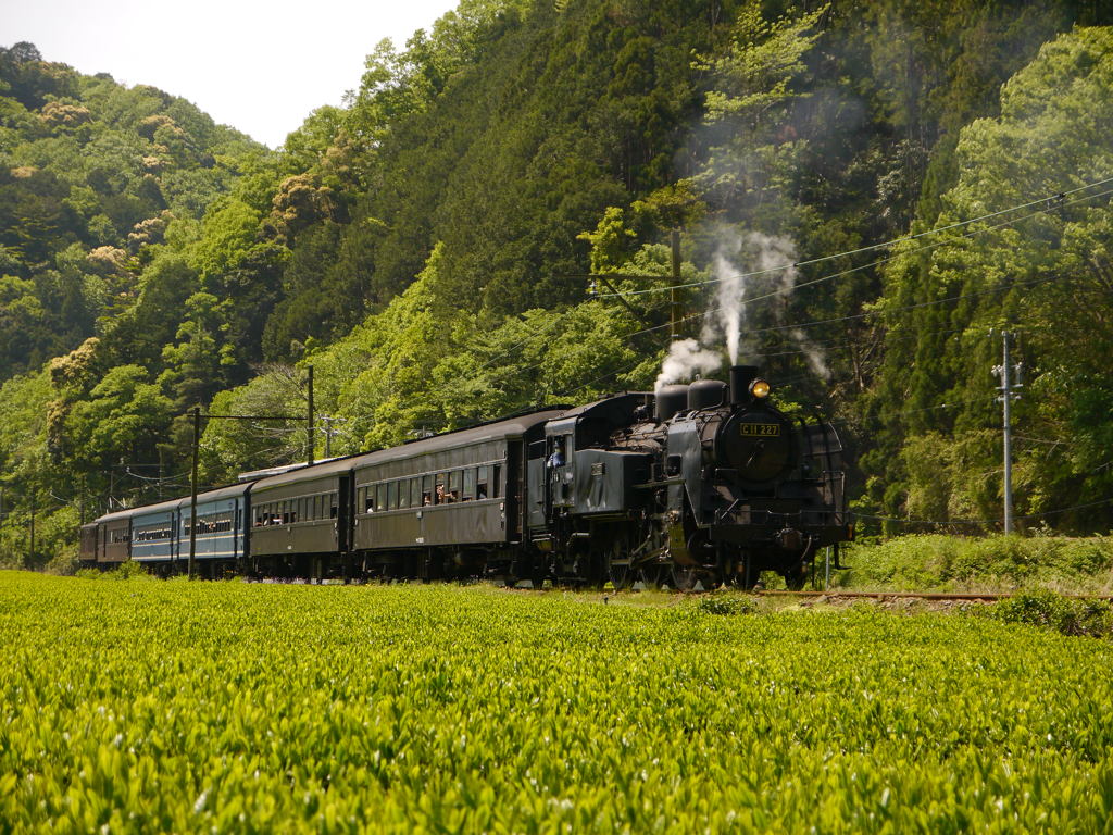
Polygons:
M152 85L272 148L359 86L383 38L403 47L457 0L0 0L0 46L129 87Z

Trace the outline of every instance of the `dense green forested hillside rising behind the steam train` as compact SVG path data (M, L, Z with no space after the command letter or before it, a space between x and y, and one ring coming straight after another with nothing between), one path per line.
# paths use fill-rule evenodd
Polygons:
M316 458L761 365L859 531L1113 529L1113 9L461 0L268 150L0 49L0 562L188 492L190 412ZM57 60L56 60L57 59ZM670 345L679 230L683 338ZM206 424L203 487L304 425Z

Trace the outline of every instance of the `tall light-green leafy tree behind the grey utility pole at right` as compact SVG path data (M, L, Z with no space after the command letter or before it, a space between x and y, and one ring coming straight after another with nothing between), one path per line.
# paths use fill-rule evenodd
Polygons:
M1113 350L1109 292L1109 187L1113 178L1107 126L1113 91L1113 35L1080 29L1045 46L1002 90L1001 116L962 131L955 154L958 180L943 195L938 225L1004 213L969 227L943 229L933 248L908 244L889 271L881 312L889 325L878 418L893 420L866 465L883 483L913 497L925 480L951 484L947 508L993 518L999 508L999 448L976 442L999 422L989 369L1002 328L1023 337L1027 396L1017 405L1022 435L1017 494L1022 511L1041 513L1089 504L1109 494L1107 455L1113 397L1106 357ZM1066 191L1046 206L1011 207L1033 196ZM997 328L992 332L991 328ZM953 409L934 409L951 403ZM934 433L934 434L933 434ZM923 449L919 439L977 455L943 451L930 469L884 466L886 450ZM967 471L993 473L994 485L969 485ZM932 475L935 471L935 475ZM942 474L942 478L940 478ZM881 499L889 513L903 493ZM938 505L938 502L936 503ZM1109 519L1110 508L1083 509L1066 519ZM1055 521L1066 521L1056 519Z

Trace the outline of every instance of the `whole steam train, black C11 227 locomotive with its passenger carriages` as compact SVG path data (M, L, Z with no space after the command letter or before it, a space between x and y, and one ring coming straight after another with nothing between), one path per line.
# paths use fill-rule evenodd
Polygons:
M774 407L755 366L729 379L290 469L201 493L196 513L189 498L109 513L82 528L81 560L680 589L776 571L796 586L853 538L843 448L830 423Z

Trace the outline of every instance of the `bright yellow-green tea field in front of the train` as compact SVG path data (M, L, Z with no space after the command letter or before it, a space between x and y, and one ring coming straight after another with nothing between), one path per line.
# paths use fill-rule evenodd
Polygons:
M729 611L0 573L0 832L1113 831L1110 642Z

